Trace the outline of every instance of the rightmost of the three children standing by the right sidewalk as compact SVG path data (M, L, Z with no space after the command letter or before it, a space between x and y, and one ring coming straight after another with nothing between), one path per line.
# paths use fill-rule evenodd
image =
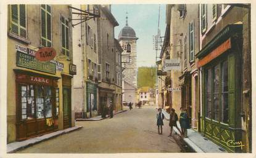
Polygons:
M184 108L181 109L181 114L180 114L180 125L181 125L181 135L184 138L188 137L188 129L190 128L189 125L189 118L188 118L188 113L187 110Z

